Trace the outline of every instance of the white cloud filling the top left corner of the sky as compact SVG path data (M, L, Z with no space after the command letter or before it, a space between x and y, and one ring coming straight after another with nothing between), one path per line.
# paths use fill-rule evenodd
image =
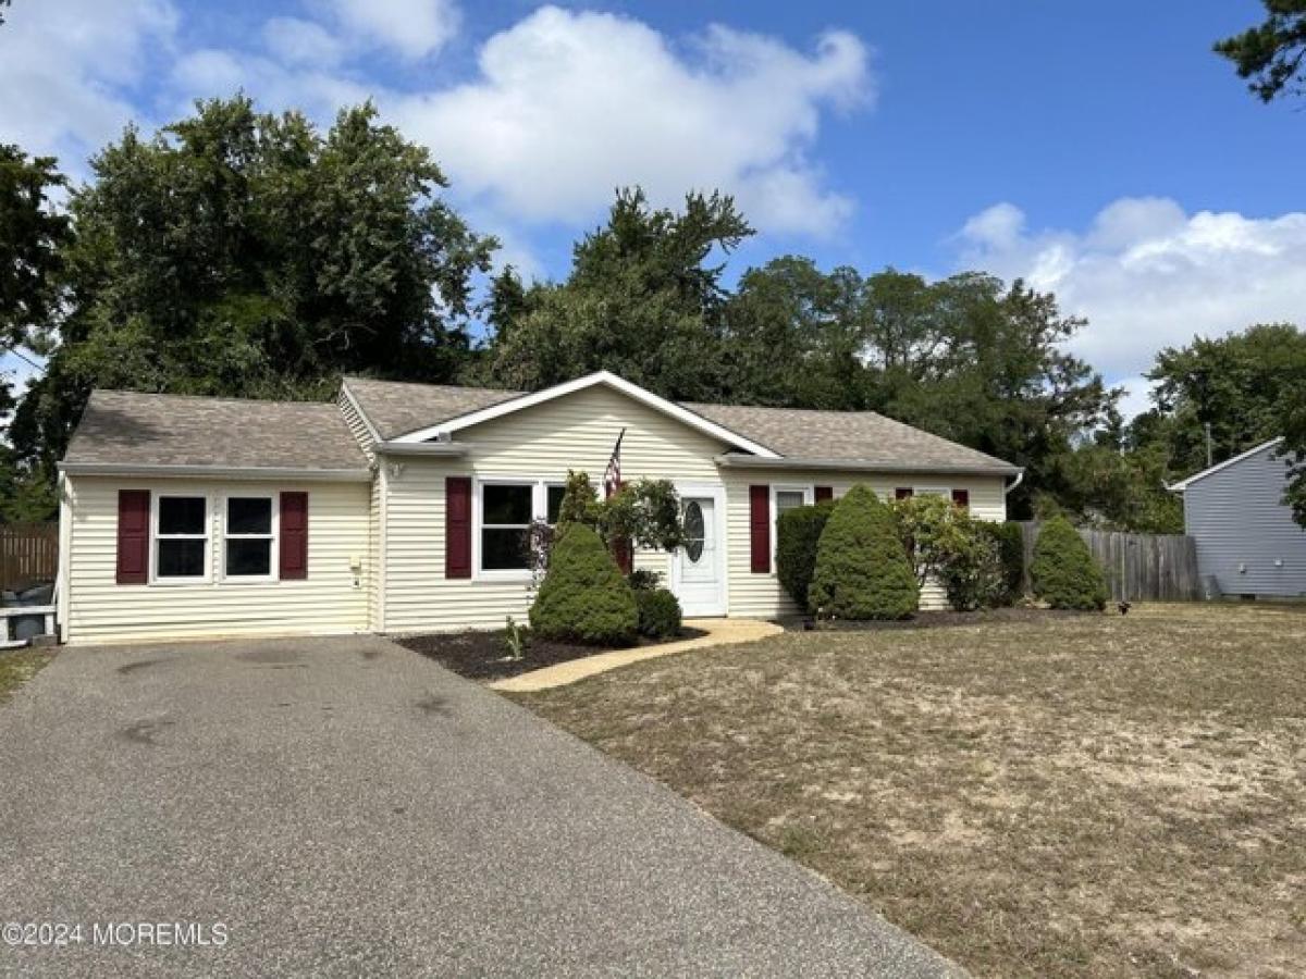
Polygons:
M0 133L80 171L140 116L132 89L171 48L176 23L167 0L14 4L0 29Z

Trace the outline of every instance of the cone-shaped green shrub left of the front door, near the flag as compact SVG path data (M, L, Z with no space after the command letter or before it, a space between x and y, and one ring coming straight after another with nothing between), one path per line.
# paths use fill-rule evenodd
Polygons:
M598 534L567 523L530 606L532 630L547 640L623 646L635 641L635 593Z

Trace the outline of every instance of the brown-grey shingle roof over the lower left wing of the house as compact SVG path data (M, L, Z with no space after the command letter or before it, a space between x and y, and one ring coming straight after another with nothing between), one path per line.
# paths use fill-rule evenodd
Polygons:
M71 463L367 471L336 405L91 393Z

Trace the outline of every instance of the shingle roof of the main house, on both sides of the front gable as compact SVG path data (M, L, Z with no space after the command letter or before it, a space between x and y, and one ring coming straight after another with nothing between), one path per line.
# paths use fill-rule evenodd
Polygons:
M522 396L490 388L346 380L383 439L436 426ZM874 411L804 411L738 405L683 407L781 456L885 469L969 469L1013 473L1008 462Z

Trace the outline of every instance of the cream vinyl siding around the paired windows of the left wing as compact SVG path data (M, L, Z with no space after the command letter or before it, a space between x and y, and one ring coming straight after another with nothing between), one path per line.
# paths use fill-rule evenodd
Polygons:
M367 568L355 581L353 559L368 551L367 483L119 479L71 476L68 641L74 644L366 632ZM118 585L118 491L149 489L210 497L208 583ZM217 500L281 491L308 493L308 577L303 581L221 581ZM276 550L273 553L276 561Z

